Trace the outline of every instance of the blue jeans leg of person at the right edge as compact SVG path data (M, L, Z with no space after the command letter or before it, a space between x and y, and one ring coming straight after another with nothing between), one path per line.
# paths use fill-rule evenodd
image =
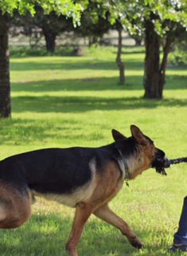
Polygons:
M174 243L183 243L187 245L187 196L185 196L184 199L177 233L174 234Z

